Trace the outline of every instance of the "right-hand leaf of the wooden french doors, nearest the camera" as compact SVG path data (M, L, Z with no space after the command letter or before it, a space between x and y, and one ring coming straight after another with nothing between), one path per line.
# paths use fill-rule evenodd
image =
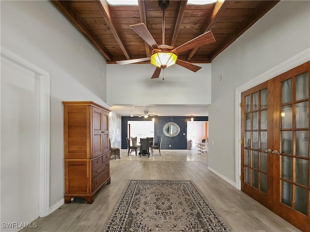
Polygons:
M274 211L310 231L310 62L274 78Z

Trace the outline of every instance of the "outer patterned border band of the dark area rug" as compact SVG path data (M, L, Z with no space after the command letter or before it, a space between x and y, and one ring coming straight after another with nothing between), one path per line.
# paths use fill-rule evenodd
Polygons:
M133 181L141 181L141 182L154 182L154 181L171 181L171 182L190 182L193 187L195 188L195 190L199 193L200 197L205 201L205 203L207 203L207 205L210 206L211 210L213 211L213 213L218 217L218 219L227 227L228 230L225 230L223 232L233 232L232 228L229 226L229 224L227 223L227 221L221 217L217 211L215 210L215 207L212 203L210 203L207 198L202 194L202 191L198 188L198 186L194 183L193 180L171 180L171 179L154 179L154 180L150 180L150 179L127 179L126 181L128 181L125 185L125 187L122 190L122 194L119 196L116 204L114 205L112 211L109 214L109 217L107 219L107 221L104 223L103 229L100 232L104 232L107 225L109 224L109 221L111 219L111 217L113 216L113 214L115 213L115 209L119 206L119 204L121 203L122 199L127 195L126 194L126 189L131 185L131 183ZM142 231L141 231L142 232Z

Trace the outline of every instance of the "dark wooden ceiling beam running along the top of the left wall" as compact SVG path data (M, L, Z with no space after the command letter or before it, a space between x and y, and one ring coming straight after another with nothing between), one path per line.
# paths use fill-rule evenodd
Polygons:
M69 1L53 0L51 2L87 39L93 43L93 45L107 59L107 61L112 61L112 55L109 53L108 49L100 42L93 31L89 29L83 19L72 9Z

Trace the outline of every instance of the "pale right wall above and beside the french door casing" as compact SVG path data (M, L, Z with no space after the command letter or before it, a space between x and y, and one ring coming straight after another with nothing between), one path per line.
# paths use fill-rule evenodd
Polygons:
M212 61L209 167L235 181L235 88L310 46L310 1L280 1ZM217 77L223 73L223 81ZM212 144L214 141L214 145Z

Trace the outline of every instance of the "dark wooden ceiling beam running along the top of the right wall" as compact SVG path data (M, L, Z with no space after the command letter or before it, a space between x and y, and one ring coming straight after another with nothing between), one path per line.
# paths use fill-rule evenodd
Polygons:
M241 36L247 29L249 29L253 24L263 17L271 8L273 8L279 0L276 1L261 1L259 6L255 9L252 15L249 16L247 20L244 20L239 27L237 27L234 32L224 41L223 45L220 46L217 50L213 51L210 54L210 60L213 60L224 51L230 44L232 44L239 36Z

